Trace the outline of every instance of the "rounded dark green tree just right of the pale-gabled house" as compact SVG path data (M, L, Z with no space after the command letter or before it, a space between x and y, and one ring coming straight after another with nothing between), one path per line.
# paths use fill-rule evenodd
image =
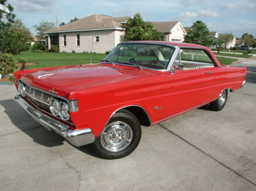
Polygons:
M193 23L191 29L188 29L184 43L192 43L209 47L213 45L214 40L213 37L210 36L207 24L201 22L201 20L197 20Z

